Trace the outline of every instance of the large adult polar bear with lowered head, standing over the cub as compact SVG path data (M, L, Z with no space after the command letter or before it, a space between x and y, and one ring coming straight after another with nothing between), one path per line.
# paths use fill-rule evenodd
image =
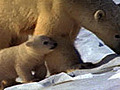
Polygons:
M82 68L73 45L80 27L120 52L119 17L112 0L0 0L0 48L22 43L28 34L47 35L58 43L45 59L51 74Z

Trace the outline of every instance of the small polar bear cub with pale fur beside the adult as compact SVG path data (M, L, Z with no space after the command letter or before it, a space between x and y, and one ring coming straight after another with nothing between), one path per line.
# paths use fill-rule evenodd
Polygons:
M19 76L23 83L42 80L46 76L44 57L56 42L46 36L35 36L25 43L0 51L0 82L14 85ZM31 71L35 74L32 75Z

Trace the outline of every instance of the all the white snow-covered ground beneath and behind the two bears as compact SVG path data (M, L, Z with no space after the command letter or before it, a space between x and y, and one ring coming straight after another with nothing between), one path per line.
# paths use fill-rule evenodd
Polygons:
M119 3L120 0L114 0ZM84 62L99 62L109 54L115 53L93 33L82 28L75 46ZM5 90L120 90L120 57L99 68L86 71L74 71L69 74L60 73L40 82L21 84ZM112 68L112 69L111 69ZM109 72L99 73L101 70ZM93 72L97 72L93 74Z

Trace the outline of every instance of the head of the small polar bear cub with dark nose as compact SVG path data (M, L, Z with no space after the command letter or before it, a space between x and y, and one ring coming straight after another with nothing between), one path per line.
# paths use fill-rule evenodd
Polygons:
M34 36L26 42L26 46L34 50L35 52L42 52L47 54L56 48L57 43L47 36Z

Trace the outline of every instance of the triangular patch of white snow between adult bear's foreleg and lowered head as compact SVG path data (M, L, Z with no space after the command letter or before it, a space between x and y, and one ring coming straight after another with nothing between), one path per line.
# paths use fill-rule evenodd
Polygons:
M105 56L115 53L96 35L84 28L79 32L75 41L75 46L84 62L97 63Z

